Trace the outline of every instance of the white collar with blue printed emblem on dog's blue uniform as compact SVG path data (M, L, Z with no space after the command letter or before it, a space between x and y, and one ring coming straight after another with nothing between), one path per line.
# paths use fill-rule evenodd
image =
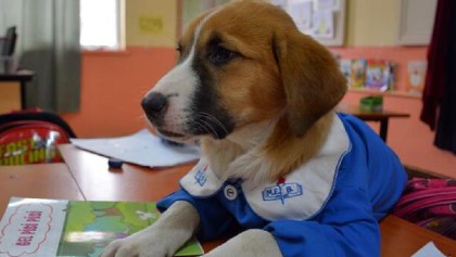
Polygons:
M241 184L250 207L267 220L304 220L318 214L330 198L339 166L351 143L338 116L333 118L329 137L318 154L276 183ZM237 190L219 180L203 156L181 180L180 185L194 197L210 197L223 187L227 201L235 201Z

